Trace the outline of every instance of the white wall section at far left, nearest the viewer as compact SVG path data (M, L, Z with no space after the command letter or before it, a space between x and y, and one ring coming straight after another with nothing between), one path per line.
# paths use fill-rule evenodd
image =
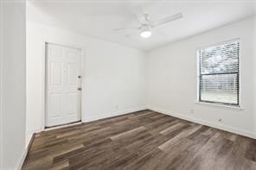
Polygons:
M1 6L1 169L13 170L25 155L26 5L1 1Z

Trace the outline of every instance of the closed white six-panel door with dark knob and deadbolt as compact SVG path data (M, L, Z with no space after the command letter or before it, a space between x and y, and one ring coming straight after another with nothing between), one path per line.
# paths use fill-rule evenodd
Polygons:
M81 119L81 51L46 44L46 127Z

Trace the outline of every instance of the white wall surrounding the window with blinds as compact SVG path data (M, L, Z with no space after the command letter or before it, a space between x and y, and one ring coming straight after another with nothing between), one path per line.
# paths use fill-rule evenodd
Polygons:
M254 33L253 18L249 18L149 52L149 108L240 134L254 135ZM243 110L195 104L196 49L235 38L240 38L240 104ZM218 122L219 118L222 119L221 123Z

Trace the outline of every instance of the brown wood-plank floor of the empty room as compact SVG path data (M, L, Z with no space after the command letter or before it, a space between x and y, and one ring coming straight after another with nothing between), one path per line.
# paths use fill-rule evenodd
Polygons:
M25 169L256 169L256 140L143 110L35 135Z

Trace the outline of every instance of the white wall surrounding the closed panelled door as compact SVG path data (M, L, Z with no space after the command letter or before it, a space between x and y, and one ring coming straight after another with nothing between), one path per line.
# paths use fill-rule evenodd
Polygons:
M144 52L28 22L27 139L43 126L44 41L83 49L83 122L144 109Z

